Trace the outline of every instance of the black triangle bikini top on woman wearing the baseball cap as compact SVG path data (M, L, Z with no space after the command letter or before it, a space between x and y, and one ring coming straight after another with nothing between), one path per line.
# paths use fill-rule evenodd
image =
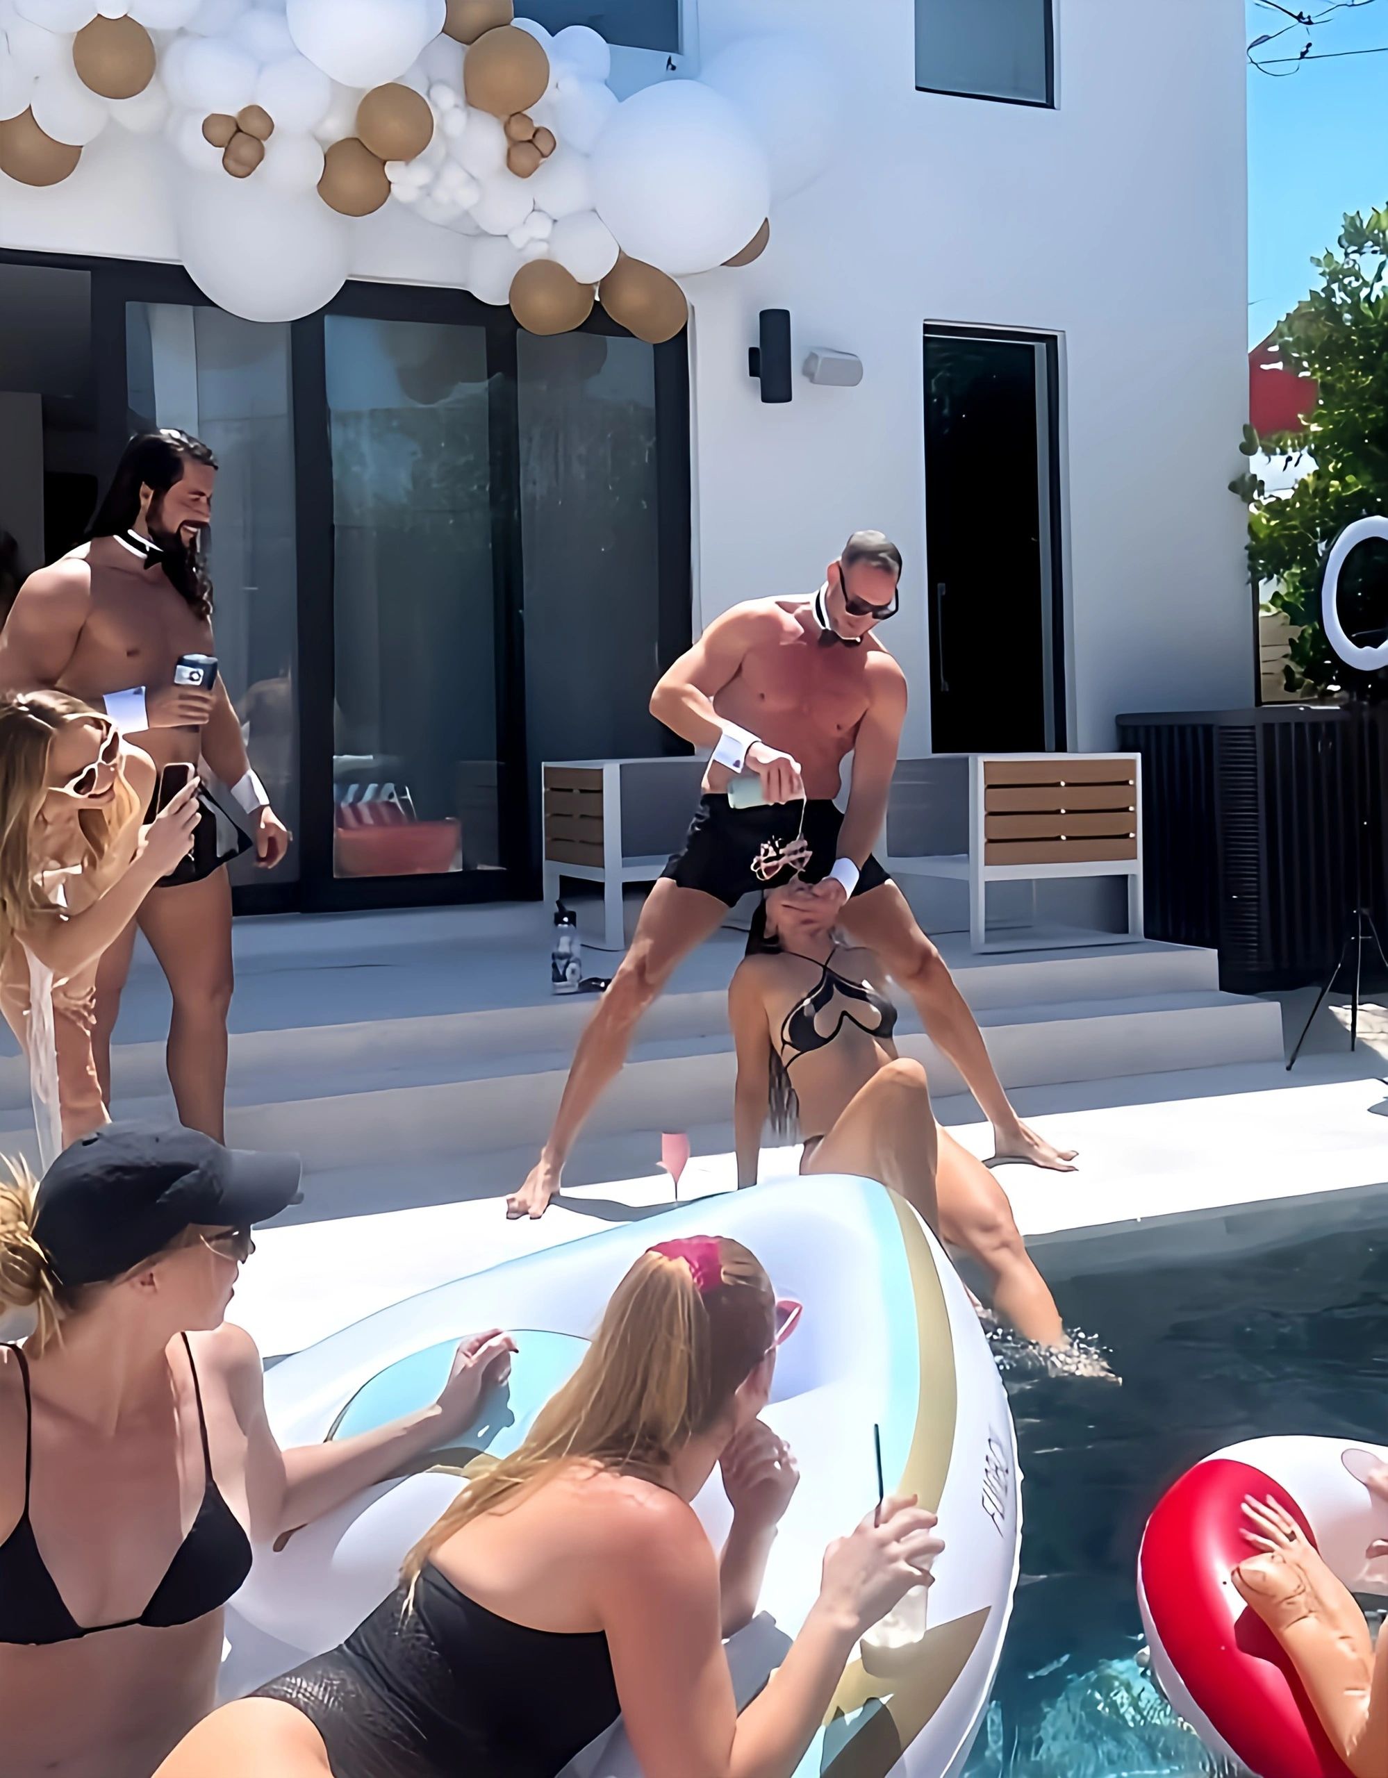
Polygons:
M192 1371L192 1392L198 1398L198 1430L203 1435L203 1502L189 1534L173 1554L164 1579L153 1591L139 1618L121 1623L80 1625L62 1604L62 1595L48 1574L34 1526L28 1518L28 1485L34 1472L34 1396L28 1387L28 1360L14 1346L20 1374L25 1380L25 1510L20 1522L0 1543L0 1643L71 1643L98 1630L128 1630L141 1623L151 1630L165 1630L176 1623L192 1623L217 1611L237 1591L251 1572L251 1540L231 1508L221 1497L212 1479L212 1456L206 1446L206 1417L203 1390L198 1383L198 1366L192 1362L189 1335L183 1350Z

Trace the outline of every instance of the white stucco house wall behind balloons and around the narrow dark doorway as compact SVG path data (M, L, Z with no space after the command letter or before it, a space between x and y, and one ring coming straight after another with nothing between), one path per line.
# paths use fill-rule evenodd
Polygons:
M829 172L740 272L690 279L696 622L817 585L858 525L908 560L892 645L929 747L922 324L1061 336L1071 745L1125 709L1242 704L1255 644L1242 0L1057 0L1053 112L915 91L911 0L699 0L705 55L811 32L840 71ZM62 185L0 176L0 244L176 258L162 142L112 130ZM466 240L399 204L356 226L356 276L457 283ZM799 375L762 405L760 308L792 311L797 364L858 352L856 389ZM915 594L915 597L909 597Z

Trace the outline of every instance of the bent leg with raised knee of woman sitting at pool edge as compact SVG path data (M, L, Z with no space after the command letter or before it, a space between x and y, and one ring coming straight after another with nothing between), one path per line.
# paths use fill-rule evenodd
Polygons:
M877 1179L940 1234L938 1134L925 1069L899 1058L852 1095L835 1127L801 1161L801 1172Z

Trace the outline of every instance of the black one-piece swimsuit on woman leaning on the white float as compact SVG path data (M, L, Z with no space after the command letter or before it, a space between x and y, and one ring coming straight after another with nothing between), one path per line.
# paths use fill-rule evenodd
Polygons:
M609 1728L607 1636L498 1618L425 1565L340 1648L253 1696L292 1703L333 1778L555 1778Z

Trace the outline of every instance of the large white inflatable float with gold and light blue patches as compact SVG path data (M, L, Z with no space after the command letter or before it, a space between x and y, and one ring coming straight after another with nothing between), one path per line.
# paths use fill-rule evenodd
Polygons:
M265 1378L270 1424L281 1444L308 1444L431 1401L468 1330L505 1326L518 1344L509 1383L484 1399L450 1451L256 1550L228 1613L233 1655L238 1636L253 1652L269 1634L303 1661L352 1630L391 1591L406 1550L454 1499L466 1465L525 1435L632 1261L655 1241L696 1232L744 1241L776 1289L804 1303L765 1414L792 1444L801 1485L772 1550L762 1614L728 1645L738 1698L751 1698L785 1657L817 1597L824 1547L870 1511L877 1424L888 1492L915 1492L938 1511L947 1549L925 1595L924 1634L890 1659L856 1654L801 1771L957 1778L988 1707L1016 1586L1013 1417L943 1250L900 1198L861 1179L797 1179L703 1198L427 1291L278 1364ZM717 1472L694 1504L719 1543L730 1513ZM246 1661L238 1673L249 1686L270 1677L249 1677ZM589 1769L584 1758L575 1771ZM635 1771L617 1725L603 1778Z

